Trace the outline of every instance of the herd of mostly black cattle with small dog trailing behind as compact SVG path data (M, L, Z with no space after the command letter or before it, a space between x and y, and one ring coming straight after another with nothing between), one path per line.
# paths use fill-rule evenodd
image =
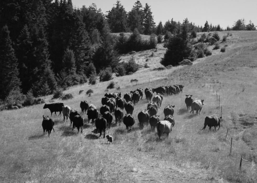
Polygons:
M160 109L162 102L163 102L163 96L164 95L178 95L180 92L183 92L183 85L174 85L174 86L160 86L157 88L146 88L144 90L144 93L146 95L147 102L147 109L142 110L138 113L138 121L140 127L144 128L144 123L146 123L146 126L148 123L151 125L151 129L154 131L155 127L157 128L157 133L159 136L159 139L162 134L169 135L170 131L172 131L172 127L175 125L175 119L173 117L174 114L174 107L172 105L168 105L164 108L164 120L161 121L159 118L159 115L157 115L158 108ZM156 92L156 95L153 97L153 93ZM92 124L94 124L95 120L95 126L96 130L100 131L100 136L102 135L102 131L104 133L103 138L105 138L105 130L107 128L110 129L110 125L113 121L113 112L115 116L115 121L117 124L117 121L119 121L119 125L121 124L121 120L123 118L123 123L126 125L127 132L131 131L131 127L135 124L135 119L133 117L133 110L134 107L137 105L137 103L143 98L143 89L138 88L137 90L130 91L129 93L125 93L124 97L121 97L120 92L113 92L113 93L105 93L104 97L101 99L101 103L103 106L100 107L100 114L97 108L93 104L88 104L87 101L81 101L80 108L82 115L87 111L88 116L88 123L90 120L92 120ZM151 102L152 99L152 102ZM192 95L186 95L185 98L185 104L186 108L189 110L191 107L192 114L194 115L194 111L196 110L196 114L198 115L201 113L202 106L204 105L204 100L195 100L192 97ZM63 120L66 121L68 118L71 121L71 125L73 123L72 130L77 127L78 132L79 129L81 129L81 133L83 133L83 125L84 125L84 119L81 117L81 114L79 114L76 110L71 110L69 106L64 106L63 103L52 103L52 104L45 104L44 109L50 109L51 115L53 112L60 112L59 115L61 115L61 112L63 113ZM123 110L126 110L126 114L124 116ZM205 118L204 127L209 127L211 130L211 127L214 126L215 130L216 127L220 127L220 119L222 117L217 117L216 115L207 116ZM43 115L43 122L42 127L45 131L48 133L48 136L51 133L51 130L53 129L54 121L50 119L48 116L44 117ZM202 130L203 130L202 129ZM54 131L54 129L53 129ZM110 142L113 141L113 137L108 137L108 140Z

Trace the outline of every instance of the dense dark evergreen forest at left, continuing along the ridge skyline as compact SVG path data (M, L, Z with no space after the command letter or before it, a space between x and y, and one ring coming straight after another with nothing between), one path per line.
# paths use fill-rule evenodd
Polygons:
M244 26L242 22L235 25L255 29L253 24ZM72 0L0 1L0 99L14 90L23 94L30 91L37 97L56 88L87 81L94 84L96 75L105 68L124 70L120 53L155 48L153 34L168 39L182 25L171 19L156 26L150 6L146 3L143 7L140 1L130 12L117 1L106 14L95 4L74 8ZM187 22L187 29L223 30L207 21L205 27ZM111 34L115 32L132 34ZM140 34L151 36L143 40Z

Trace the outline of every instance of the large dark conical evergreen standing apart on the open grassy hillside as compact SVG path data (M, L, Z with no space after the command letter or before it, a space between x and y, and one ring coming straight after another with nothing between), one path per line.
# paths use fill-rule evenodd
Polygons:
M190 40L188 19L183 21L181 29L175 36L170 37L166 45L167 51L160 63L164 66L177 65L183 59L193 60L193 47Z

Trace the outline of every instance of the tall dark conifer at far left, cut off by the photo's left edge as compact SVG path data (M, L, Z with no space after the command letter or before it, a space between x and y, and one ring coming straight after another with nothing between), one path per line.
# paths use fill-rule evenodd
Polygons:
M5 99L11 90L19 89L21 84L9 34L8 27L4 26L0 32L0 99Z

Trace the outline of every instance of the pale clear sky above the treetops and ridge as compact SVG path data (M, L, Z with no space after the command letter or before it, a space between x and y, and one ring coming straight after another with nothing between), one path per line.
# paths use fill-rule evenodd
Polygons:
M137 0L120 0L126 12L129 12ZM95 3L102 12L111 10L117 0L72 0L76 8L83 5L89 7ZM257 25L257 1L256 0L140 0L143 7L147 3L151 6L152 15L156 25L162 21L162 24L173 18L174 21L181 23L185 18L195 25L203 26L208 21L210 25L220 25L223 29L227 26L232 27L235 21L249 20Z

